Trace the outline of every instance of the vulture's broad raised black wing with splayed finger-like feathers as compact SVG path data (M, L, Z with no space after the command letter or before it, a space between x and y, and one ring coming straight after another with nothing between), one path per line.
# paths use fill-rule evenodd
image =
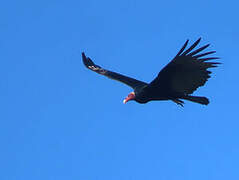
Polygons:
M185 50L187 40L175 58L159 72L149 86L160 85L171 92L183 94L192 94L198 87L203 86L210 78L211 71L208 68L217 67L220 63L209 62L209 60L219 59L218 57L205 57L216 51L201 53L209 44L193 51L200 40L201 38Z

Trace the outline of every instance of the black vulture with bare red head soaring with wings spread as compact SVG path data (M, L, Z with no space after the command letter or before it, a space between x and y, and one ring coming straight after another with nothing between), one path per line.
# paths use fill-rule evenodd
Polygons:
M216 51L201 53L210 44L193 50L201 38L185 50L188 41L185 42L178 54L168 63L158 76L150 83L142 82L122 74L106 70L96 65L89 57L82 53L84 65L101 75L118 80L134 89L125 99L124 103L135 100L138 103L147 103L152 100L172 100L183 106L182 99L207 105L209 100L206 97L191 96L198 87L203 86L210 78L211 71L208 68L217 67L218 62L209 60L219 59L218 57L204 57Z

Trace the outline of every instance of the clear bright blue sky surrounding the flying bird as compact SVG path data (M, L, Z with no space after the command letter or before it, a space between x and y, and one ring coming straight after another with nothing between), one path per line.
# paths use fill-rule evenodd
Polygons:
M3 1L1 180L238 180L237 1ZM96 64L150 82L189 39L223 64L194 95L138 104Z

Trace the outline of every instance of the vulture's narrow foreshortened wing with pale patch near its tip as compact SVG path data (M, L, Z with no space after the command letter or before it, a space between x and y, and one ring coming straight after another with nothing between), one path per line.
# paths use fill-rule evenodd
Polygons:
M84 65L88 69L90 69L90 70L92 70L92 71L94 71L98 74L104 75L108 78L120 81L120 82L132 87L133 89L143 87L143 86L147 85L147 83L145 83L145 82L142 82L142 81L139 81L137 79L133 79L133 78L124 76L124 75L119 74L119 73L109 71L107 69L104 69L104 68L96 65L89 57L86 57L84 53L82 53L82 59L83 59Z

